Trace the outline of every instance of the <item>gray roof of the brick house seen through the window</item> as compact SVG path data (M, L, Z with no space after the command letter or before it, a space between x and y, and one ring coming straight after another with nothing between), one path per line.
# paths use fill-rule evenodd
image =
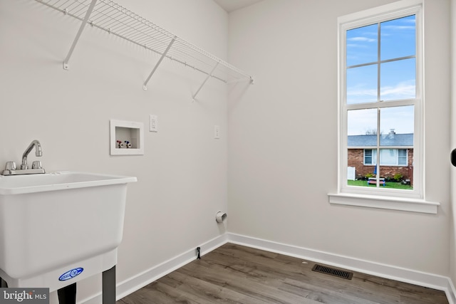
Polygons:
M348 135L348 147L375 147L377 135ZM413 133L380 135L380 146L413 147Z

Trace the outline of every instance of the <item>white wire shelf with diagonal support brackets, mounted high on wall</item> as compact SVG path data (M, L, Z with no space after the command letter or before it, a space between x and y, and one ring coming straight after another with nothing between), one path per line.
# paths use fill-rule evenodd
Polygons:
M63 14L81 20L80 31L75 38L73 46L68 53L66 63L73 52L74 46L81 35L86 23L91 26L107 31L108 33L124 38L131 43L138 44L148 50L159 54L160 61L155 65L149 78L144 83L146 89L147 82L155 72L157 66L163 58L181 63L190 68L194 68L207 75L207 78L216 78L224 83L234 83L247 80L253 82L252 76L236 68L234 65L222 61L222 59L208 53L185 41L182 38L157 26L155 23L142 18L119 4L110 0L36 0L41 4L50 6L61 11ZM64 63L65 67L65 63ZM206 82L204 80L204 83ZM204 85L203 83L203 85ZM201 86L202 87L202 86ZM197 90L197 93L201 89ZM195 95L197 94L195 93ZM195 98L195 95L193 98Z

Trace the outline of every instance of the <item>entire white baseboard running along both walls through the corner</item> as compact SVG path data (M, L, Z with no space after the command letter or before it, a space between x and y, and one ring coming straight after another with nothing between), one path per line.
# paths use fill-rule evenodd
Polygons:
M203 255L209 253L214 249L222 246L224 243L236 243L243 246L258 248L275 253L281 253L286 256L294 256L317 263L324 263L327 265L335 266L338 268L345 268L351 271L358 271L361 273L379 276L381 278L389 278L396 281L405 283L412 283L428 288L445 291L448 302L456 304L456 289L450 278L439 276L432 273L423 273L420 271L413 271L406 268L399 268L395 266L365 261L358 258L351 258L349 256L340 256L333 253L324 251L316 251L314 249L291 246L284 243L277 243L274 241L267 241L264 239L256 239L250 236L242 236L239 234L224 234L215 239L207 241L202 244L201 250ZM147 284L156 281L162 276L175 271L177 268L184 266L187 263L195 260L195 249L185 251L184 253L170 258L155 267L148 269L137 276L128 278L117 284L117 300L135 292L136 290L144 287ZM93 297L82 300L81 304L99 304L102 303L102 295L98 293Z

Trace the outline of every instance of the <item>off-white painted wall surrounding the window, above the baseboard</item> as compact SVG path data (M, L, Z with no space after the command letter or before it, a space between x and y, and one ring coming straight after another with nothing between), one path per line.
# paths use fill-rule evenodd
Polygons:
M255 76L229 89L229 232L449 276L449 1L425 1L425 187L438 214L328 204L337 18L390 2L264 0L229 14L229 61Z

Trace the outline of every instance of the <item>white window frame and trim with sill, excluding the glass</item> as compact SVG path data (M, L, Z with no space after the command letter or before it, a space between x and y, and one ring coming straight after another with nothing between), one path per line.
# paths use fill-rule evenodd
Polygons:
M385 103L388 103L388 107L413 105L415 109L413 190L349 186L346 179L347 113L348 110L363 109L366 105L346 103L346 31L410 15L416 16L416 96L414 100L394 100ZM328 194L331 204L437 213L437 206L440 204L425 201L424 189L423 16L423 0L403 0L338 18L338 191L336 194Z

